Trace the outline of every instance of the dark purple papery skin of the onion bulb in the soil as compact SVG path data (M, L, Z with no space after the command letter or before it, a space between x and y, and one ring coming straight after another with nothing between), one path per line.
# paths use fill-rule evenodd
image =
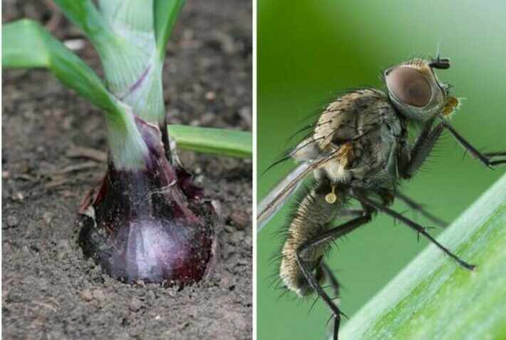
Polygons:
M135 118L149 153L143 170L108 162L81 205L78 244L111 277L185 286L215 267L217 216L191 175L165 157L160 129Z

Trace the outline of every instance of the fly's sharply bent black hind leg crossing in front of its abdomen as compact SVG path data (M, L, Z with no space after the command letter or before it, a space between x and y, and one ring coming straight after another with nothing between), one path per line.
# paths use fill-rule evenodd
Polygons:
M327 305L327 307L329 307L331 313L334 315L334 340L337 340L337 334L339 332L339 324L341 321L342 313L339 310L338 306L334 304L329 295L327 295L324 289L321 287L318 280L311 272L311 269L309 268L309 265L306 263L306 260L304 260L304 257L306 254L309 254L309 252L314 251L319 247L325 247L327 244L329 244L329 242L333 241L338 237L348 234L348 232L355 230L356 228L369 222L370 220L371 215L369 214L354 218L353 220L349 220L348 222L345 222L344 224L339 225L338 227L332 228L328 232L325 232L324 234L320 235L319 237L316 237L310 242L303 244L296 251L297 262L299 263L299 267L301 269L302 274L304 274L304 277L306 278L311 288L316 292L316 294L319 295L319 297L321 297L322 300L324 300L325 304Z

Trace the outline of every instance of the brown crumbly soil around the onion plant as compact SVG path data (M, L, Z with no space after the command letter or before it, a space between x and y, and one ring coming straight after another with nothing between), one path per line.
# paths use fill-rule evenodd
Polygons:
M83 38L46 3L3 1L2 21ZM187 1L169 45L169 122L251 130L251 1ZM90 43L77 53L100 73ZM101 113L46 71L3 74L4 339L252 339L252 163L181 153L220 213L211 279L122 284L76 245L78 205L105 173Z

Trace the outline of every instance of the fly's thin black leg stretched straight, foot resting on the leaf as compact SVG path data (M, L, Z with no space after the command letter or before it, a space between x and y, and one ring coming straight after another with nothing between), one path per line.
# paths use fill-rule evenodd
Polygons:
M450 252L450 250L445 248L443 246L443 244L440 244L438 241L436 241L434 239L434 237L430 236L430 234L425 230L426 228L422 227L418 223L413 222L412 220L409 220L408 218L404 217L403 215L399 214L398 212L389 209L385 205L382 205L381 203L370 200L369 198L367 198L363 195L360 195L356 192L353 192L352 195L353 195L353 197L355 197L358 201L362 202L363 204L369 205L369 206L375 208L376 210L378 210L380 212L384 212L386 215L389 215L389 216L395 218L396 220L403 222L405 225L407 225L411 229L415 230L415 232L418 232L418 235L423 235L423 237L427 238L430 242L435 244L436 247L443 250L443 252L445 254L450 256L452 259L454 259L456 262L458 262L458 264L460 264L465 269L470 269L470 270L475 269L476 266L474 264L469 264L468 262L465 262L463 259L460 259L460 257L458 257L457 255L453 254L453 252Z

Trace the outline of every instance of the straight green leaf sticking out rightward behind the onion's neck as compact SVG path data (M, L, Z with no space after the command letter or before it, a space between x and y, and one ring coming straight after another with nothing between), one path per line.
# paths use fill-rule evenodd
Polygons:
M237 158L252 158L252 133L217 128L168 125L177 148Z

